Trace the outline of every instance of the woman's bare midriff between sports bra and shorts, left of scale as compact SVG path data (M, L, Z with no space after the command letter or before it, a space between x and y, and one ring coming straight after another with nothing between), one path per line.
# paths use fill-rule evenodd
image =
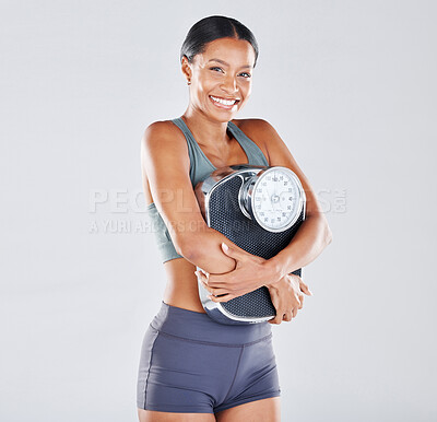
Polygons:
M167 284L163 301L172 306L205 313L199 297L196 266L185 258L170 259L164 262Z

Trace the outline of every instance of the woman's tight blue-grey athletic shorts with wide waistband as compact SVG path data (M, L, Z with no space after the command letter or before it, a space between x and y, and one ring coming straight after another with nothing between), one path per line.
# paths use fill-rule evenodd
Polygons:
M277 396L269 323L223 325L162 302L142 342L138 408L215 413Z

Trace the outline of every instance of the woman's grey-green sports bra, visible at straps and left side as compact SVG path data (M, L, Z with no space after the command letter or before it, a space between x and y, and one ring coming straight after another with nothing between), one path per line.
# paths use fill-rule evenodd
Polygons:
M208 160L206 155L199 146L184 119L178 117L172 121L179 127L187 140L188 154L190 157L190 179L192 187L194 188L199 181L206 178L206 176L216 169L216 167L214 167L210 160ZM261 149L250 138L248 138L245 132L238 128L238 126L229 120L227 122L227 128L245 150L249 164L269 165L269 162ZM184 258L176 251L168 228L165 225L164 220L157 211L154 202L146 206L146 213L152 225L152 231L155 233L157 247L160 249L163 262L169 261L170 259Z

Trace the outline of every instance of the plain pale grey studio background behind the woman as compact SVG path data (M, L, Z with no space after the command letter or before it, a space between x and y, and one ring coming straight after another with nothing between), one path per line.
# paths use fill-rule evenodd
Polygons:
M185 112L179 48L211 14L255 33L237 118L276 128L334 235L273 326L283 421L437 420L436 2L0 4L1 421L137 421L165 286L140 139Z

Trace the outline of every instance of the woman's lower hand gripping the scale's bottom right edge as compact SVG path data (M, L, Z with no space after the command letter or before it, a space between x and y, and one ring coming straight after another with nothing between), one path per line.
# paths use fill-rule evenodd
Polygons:
M281 280L267 286L270 292L276 316L269 324L291 321L297 315L297 310L304 306L304 294L312 295L308 285L296 274L286 274Z

